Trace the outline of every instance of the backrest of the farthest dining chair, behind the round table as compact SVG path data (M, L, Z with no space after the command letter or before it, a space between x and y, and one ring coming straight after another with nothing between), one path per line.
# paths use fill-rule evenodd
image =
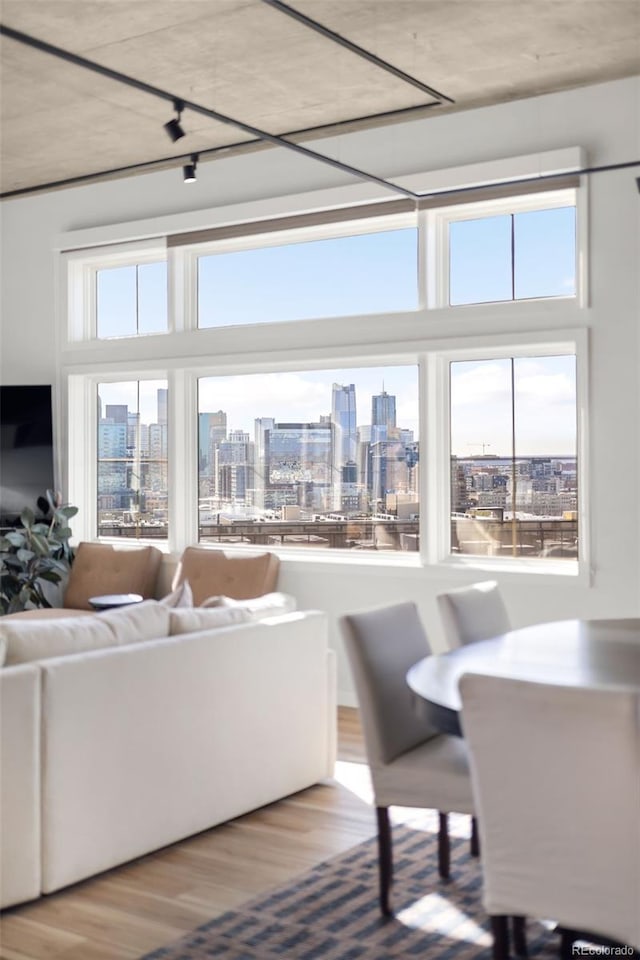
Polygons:
M511 629L509 614L495 580L440 593L436 597L449 649L488 640Z

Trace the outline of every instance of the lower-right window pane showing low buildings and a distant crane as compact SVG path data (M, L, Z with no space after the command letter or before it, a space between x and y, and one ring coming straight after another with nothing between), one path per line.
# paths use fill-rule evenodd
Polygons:
M578 556L576 357L451 363L451 550Z

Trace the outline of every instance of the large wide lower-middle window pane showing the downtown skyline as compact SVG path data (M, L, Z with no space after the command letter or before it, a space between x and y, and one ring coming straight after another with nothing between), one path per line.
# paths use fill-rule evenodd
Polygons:
M415 366L205 377L204 542L417 550Z

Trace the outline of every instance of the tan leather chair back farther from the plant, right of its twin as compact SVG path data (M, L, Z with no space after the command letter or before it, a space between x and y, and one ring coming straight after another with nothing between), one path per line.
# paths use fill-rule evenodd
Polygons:
M275 590L279 567L280 560L274 553L228 557L222 550L187 547L172 587L188 580L195 606L212 596L247 600Z

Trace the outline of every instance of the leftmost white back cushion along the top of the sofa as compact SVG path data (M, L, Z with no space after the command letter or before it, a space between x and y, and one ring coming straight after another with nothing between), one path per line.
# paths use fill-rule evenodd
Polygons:
M0 635L7 644L7 665L62 657L117 643L109 624L97 614L54 620L12 620L0 623Z

